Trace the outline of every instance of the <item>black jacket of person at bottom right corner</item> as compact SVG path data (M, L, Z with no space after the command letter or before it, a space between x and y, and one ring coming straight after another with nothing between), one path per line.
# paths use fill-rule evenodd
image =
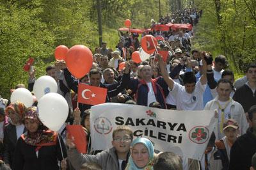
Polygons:
M249 170L252 156L256 152L256 136L248 128L246 134L241 135L233 144L230 151L229 170Z

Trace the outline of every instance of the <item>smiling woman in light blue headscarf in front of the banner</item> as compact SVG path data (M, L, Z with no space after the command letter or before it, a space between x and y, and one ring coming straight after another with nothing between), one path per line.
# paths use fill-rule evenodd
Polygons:
M147 138L139 137L131 143L131 156L126 170L153 170L154 146Z

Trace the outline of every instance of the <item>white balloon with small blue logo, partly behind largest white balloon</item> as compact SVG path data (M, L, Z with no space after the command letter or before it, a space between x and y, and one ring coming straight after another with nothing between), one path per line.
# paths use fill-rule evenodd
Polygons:
M58 85L51 76L43 75L35 81L33 91L37 100L40 100L47 93L57 93Z

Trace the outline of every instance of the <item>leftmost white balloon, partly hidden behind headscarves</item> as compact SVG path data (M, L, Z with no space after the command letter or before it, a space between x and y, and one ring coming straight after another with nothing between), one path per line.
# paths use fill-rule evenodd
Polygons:
M11 102L20 101L26 107L30 107L33 104L33 95L26 88L18 88L12 92Z

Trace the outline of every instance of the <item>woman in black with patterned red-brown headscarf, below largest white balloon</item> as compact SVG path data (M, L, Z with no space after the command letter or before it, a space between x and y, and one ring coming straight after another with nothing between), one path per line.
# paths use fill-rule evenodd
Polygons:
M58 170L58 160L67 157L61 135L59 142L58 134L42 124L36 110L28 107L24 112L23 121L28 131L17 141L14 170Z

